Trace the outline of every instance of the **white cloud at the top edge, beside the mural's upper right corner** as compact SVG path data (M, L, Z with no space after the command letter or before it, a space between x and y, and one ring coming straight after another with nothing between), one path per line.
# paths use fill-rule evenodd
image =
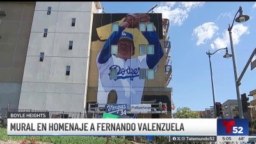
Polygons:
M178 6L173 8L175 4L178 4ZM202 5L204 5L204 2L165 2L155 8L154 12L163 13L163 19L169 19L170 24L180 26L188 18L188 13L193 8Z

